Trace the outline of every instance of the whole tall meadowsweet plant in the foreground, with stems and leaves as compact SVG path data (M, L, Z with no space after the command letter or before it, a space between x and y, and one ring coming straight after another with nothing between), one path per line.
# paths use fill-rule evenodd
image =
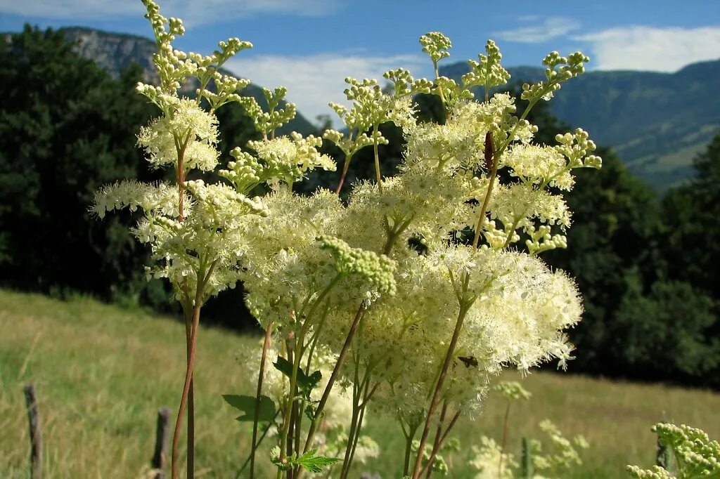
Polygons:
M564 329L579 321L580 298L572 279L539 255L567 244L571 213L562 193L574 186L572 171L601 161L582 129L559 135L557 145L537 144L527 116L582 73L585 55L547 55L545 80L523 86L527 106L517 111L513 96L500 91L510 76L494 42L456 83L438 73L451 42L431 32L420 44L433 79L402 68L384 74L390 88L346 78L351 106L330 104L342 132L279 136L295 114L283 103L285 88L266 89L260 104L238 93L248 81L219 70L248 42L220 42L207 56L183 53L172 46L184 33L181 21L162 17L153 0L143 3L158 43L160 85L140 84L138 91L160 116L143 128L138 145L151 164L174 168L176 181L107 186L94 211L141 210L133 233L153 250L148 274L170 280L185 311L188 368L173 478L186 406L189 477L193 471L200 309L238 281L265 332L256 394L226 396L253 423L251 477L256 456L275 465L278 478L330 468L333 477L350 477L369 444L361 431L371 412L397 421L404 434L405 453L392 474L429 475L451 428L477 414L489 379L502 368L570 358ZM192 98L178 93L187 81L198 87ZM418 93L438 97L441 122L418 122ZM220 159L215 111L230 102L243 106L262 139ZM383 178L379 145L388 140L380 126L389 122L402 129L405 155L397 175ZM336 191L293 193L310 170L336 169L318 151L323 141L344 155ZM348 165L365 147L373 150L374 181L348 186L343 202L338 193ZM222 181L199 179L226 161L217 172ZM258 186L269 193L253 196ZM348 405L345 426L333 435L332 405L340 397ZM260 456L263 438L272 444Z

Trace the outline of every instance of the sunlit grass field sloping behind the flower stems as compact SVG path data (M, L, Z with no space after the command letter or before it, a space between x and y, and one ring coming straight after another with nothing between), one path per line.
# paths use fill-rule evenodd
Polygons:
M199 335L196 477L233 478L245 460L248 430L220 395L251 391L235 357L257 341L221 329ZM140 478L153 452L156 411L175 409L183 375L184 327L172 319L88 299L0 291L0 478L27 477L25 383L37 388L45 477ZM663 414L720 436L718 393L552 373L523 381L534 396L513 409L508 444L517 453L521 437L538 435L546 418L567 436L584 434L590 450L572 478L623 478L628 463L650 465L649 427ZM485 413L458 426L456 436L468 446L481 434L499 439L503 412L491 396ZM399 477L400 430L372 418L367 430L384 452L364 470ZM465 462L454 457L451 477L472 478ZM271 477L270 470L260 477Z

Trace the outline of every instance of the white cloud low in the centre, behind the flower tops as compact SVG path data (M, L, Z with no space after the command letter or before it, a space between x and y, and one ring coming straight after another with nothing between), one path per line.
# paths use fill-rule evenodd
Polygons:
M250 78L267 88L287 86L288 101L297 104L297 109L315 122L320 114L330 114L336 127L339 120L328 106L329 101L345 104L343 90L347 87L344 79L375 78L384 84L382 73L395 68L408 68L415 78L426 73L426 59L420 55L390 55L386 57L342 55L325 53L309 56L266 55L251 58L233 58L225 64L235 75Z

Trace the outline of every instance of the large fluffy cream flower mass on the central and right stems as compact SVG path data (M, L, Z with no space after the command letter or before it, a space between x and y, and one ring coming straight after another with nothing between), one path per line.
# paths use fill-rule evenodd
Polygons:
M428 51L441 55L436 40L426 41ZM506 79L499 58L489 43L469 84ZM426 84L404 70L386 76L399 96ZM384 140L374 127L391 121L395 97L376 81L347 82L354 106L333 107L348 134L329 131L325 139L351 156ZM444 124L418 124L411 114L397 122L407 141L400 174L357 183L347 206L328 191L304 197L280 188L264 199L269 216L246 229L243 280L258 321L273 321L282 335L305 331L338 354L360 317L342 375L372 378L376 409L404 419L427 410L449 349L441 397L474 414L503 367L526 370L552 358L564 365L572 350L564 329L582 313L575 283L536 255L566 245L570 211L557 191L572 188L573 168L599 167L588 156L594 145L582 130L560 137L559 147L533 144L536 127L514 116L507 94L480 103L469 91L454 98ZM267 164L299 158L285 140L251 147ZM240 178L251 160L235 157L229 174ZM510 181L500 182L503 169ZM476 233L479 216L487 216L477 231L486 244L476 248L463 237ZM514 247L522 239L527 250Z

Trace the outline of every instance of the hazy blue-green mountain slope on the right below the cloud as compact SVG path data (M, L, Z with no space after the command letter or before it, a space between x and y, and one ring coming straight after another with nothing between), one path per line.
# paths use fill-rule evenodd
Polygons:
M512 81L544 78L542 68L508 70ZM467 63L454 63L440 74L457 81L467 71ZM687 178L693 157L720 132L719 85L720 60L676 73L592 71L566 83L550 109L662 190Z

